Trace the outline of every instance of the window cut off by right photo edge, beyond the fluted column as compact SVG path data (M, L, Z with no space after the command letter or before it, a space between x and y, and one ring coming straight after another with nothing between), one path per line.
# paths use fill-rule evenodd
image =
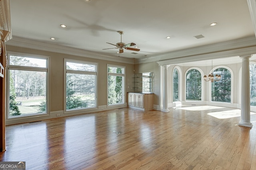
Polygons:
M256 106L256 64L250 64L250 105Z

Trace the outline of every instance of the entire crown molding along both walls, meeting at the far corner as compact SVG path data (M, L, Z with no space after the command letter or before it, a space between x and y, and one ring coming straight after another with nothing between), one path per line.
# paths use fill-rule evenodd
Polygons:
M12 45L17 47L24 47L30 49L37 49L43 51L50 51L55 53L63 53L68 55L76 55L81 57L88 57L94 59L102 59L107 61L115 61L120 63L134 64L134 59L116 57L111 55L105 55L101 53L94 53L91 51L85 51L81 49L74 49L70 47L63 47L59 45L52 45L48 43L33 41L30 39L23 39L20 37L12 37L12 39L6 42L6 45ZM180 51L174 51L163 55L157 55L154 57L135 59L135 64L157 62L159 65L165 64L178 64L192 61L201 61L209 59L218 59L224 57L233 57L240 55L252 55L256 53L256 38L246 37L243 39L236 39L232 41L225 41L222 43L215 43L212 45L204 45L201 47L195 47Z

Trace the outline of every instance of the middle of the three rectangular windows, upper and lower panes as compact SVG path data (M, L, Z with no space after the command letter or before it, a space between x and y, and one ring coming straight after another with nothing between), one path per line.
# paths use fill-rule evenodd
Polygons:
M96 107L97 64L65 59L66 111Z

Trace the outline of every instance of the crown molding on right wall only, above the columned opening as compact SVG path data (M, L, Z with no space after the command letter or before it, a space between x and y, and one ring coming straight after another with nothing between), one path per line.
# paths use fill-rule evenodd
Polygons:
M224 52L224 51L231 51L230 56L237 56L237 54L232 53L234 49L241 49L244 51L247 47L254 47L256 46L256 38L253 37L246 37L242 39L236 39L231 41L225 41L221 43L215 43L211 45L204 45L201 47L195 47L190 49L184 49L180 51L174 51L171 53L166 53L163 55L157 55L154 57L148 57L144 59L136 59L135 64L140 63L148 63L148 62L159 62L159 61L170 61L170 60L177 60L178 58L185 58L185 57L194 57L194 56L206 56L206 58L200 58L200 60L206 60L210 54L215 54ZM256 51L255 51L256 52ZM255 53L253 52L253 53ZM246 53L247 54L247 53ZM188 61L186 61L188 62ZM162 63L162 62L161 62Z

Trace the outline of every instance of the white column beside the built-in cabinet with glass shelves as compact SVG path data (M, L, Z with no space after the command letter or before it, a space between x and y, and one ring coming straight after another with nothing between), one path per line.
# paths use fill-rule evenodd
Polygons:
M163 66L163 109L161 111L168 112L168 67L170 65Z

